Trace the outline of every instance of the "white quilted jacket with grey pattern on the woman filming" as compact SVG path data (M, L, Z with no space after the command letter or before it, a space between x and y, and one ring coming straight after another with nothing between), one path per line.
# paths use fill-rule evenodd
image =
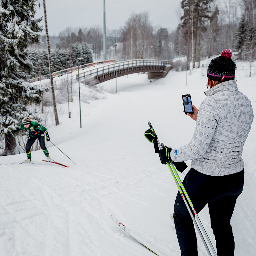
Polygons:
M240 172L242 152L251 130L251 101L238 91L234 80L204 92L191 142L171 151L175 162L193 160L191 167L211 176Z

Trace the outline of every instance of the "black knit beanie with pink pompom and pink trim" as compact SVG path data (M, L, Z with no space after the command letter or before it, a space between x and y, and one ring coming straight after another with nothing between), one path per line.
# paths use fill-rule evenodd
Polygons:
M212 59L207 69L207 77L218 82L223 79L235 80L236 63L231 59L232 51L226 49L221 56Z

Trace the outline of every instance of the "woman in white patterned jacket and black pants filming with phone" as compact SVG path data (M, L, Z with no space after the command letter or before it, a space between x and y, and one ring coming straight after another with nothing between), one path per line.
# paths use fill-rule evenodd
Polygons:
M238 91L231 55L226 49L208 66L204 92L208 97L199 109L193 105L192 115L187 114L196 121L191 142L180 148L164 147L159 153L162 164L192 160L183 185L197 213L208 204L218 256L234 256L230 219L243 190L241 156L253 121L251 101ZM181 255L198 255L194 224L179 192L173 217Z

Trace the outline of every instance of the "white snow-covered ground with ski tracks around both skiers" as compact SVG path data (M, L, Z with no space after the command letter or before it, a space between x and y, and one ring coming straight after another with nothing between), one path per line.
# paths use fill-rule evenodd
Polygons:
M237 84L255 110L255 76L246 72L237 68ZM154 82L147 74L123 76L117 79L117 94L115 79L104 82L99 85L105 90L100 100L82 102L82 128L77 98L70 103L71 118L67 104L59 105L65 113L60 125L47 128L52 142L76 165L49 142L47 148L55 161L69 168L43 162L42 150L32 152L34 164L12 165L26 159L25 153L0 157L0 255L154 255L111 215L158 255L180 255L170 220L178 189L144 132L150 121L165 145L188 143L196 123L184 115L181 95L191 94L199 107L205 98L205 74L206 68L188 72L187 86L185 71L171 71ZM86 93L84 89L82 97ZM236 256L255 255L255 137L254 122L243 150L244 191L231 220ZM221 218L221 209L216 214ZM199 217L215 244L207 207ZM200 256L207 255L199 237L198 247Z

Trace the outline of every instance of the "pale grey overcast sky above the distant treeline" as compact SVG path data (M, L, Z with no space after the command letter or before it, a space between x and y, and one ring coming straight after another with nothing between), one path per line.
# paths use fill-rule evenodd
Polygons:
M41 2L36 18L44 14ZM148 12L154 27L175 29L178 26L176 9L180 0L105 0L105 4L107 29L123 27L132 11ZM58 36L67 27L103 26L103 0L46 0L46 12L51 36Z

